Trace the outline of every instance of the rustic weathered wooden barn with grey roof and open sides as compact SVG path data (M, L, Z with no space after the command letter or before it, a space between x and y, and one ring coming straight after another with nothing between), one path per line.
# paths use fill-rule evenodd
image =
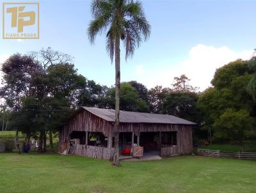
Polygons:
M115 110L80 107L61 128L60 146L73 143L75 155L111 159L114 122ZM134 157L143 151L161 157L191 153L193 125L167 114L120 111L120 153L133 149Z

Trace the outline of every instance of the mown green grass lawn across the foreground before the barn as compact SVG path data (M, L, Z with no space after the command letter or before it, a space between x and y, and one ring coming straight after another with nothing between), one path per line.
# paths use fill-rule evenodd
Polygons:
M0 154L0 192L255 192L256 162L182 156L122 162L57 154Z

